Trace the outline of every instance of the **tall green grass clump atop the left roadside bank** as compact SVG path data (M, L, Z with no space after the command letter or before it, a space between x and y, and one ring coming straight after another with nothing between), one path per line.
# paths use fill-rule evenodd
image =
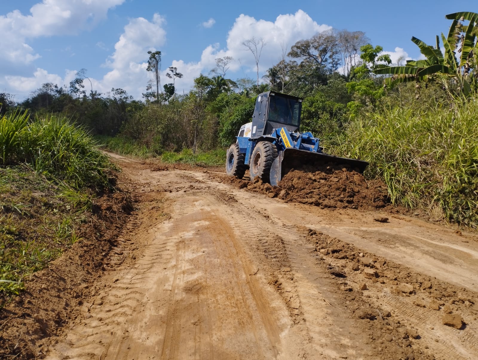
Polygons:
M65 118L29 121L19 112L0 118L0 165L20 163L76 189L98 191L114 183L108 157L86 131Z

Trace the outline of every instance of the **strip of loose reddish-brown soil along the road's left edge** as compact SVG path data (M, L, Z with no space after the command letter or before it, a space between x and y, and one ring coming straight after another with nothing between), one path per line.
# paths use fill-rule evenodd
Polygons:
M124 180L123 180L124 181ZM0 311L0 359L42 359L62 327L80 314L88 289L108 267L105 259L132 210L123 192L95 199L79 240L25 281L25 291Z

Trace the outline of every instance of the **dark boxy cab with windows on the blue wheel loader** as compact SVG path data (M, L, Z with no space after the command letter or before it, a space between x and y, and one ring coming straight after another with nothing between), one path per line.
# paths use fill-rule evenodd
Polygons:
M252 139L271 135L273 129L285 127L296 132L300 126L302 100L275 91L261 93L256 100L252 115Z

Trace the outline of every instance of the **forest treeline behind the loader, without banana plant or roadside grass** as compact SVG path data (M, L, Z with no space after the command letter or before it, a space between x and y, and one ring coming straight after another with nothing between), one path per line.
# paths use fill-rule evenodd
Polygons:
M382 79L372 70L377 61L384 58L390 62L390 58L379 56L382 48L368 42L359 31L316 34L298 41L288 53L278 54L280 61L257 79L229 79L228 68L236 59L217 58L216 67L207 76L194 79L194 87L186 94L175 91L174 81L182 77L181 69L170 67L167 78L160 79L161 52L149 52L152 80L145 84L142 100L122 89L99 93L82 69L68 86L45 83L18 104L12 103L9 94L1 94L0 102L2 112L20 106L40 117L60 114L95 135L120 134L160 155L166 150L228 146L240 125L249 122L257 94L275 90L304 98L302 130L331 140L351 115L370 110L385 94ZM252 49L259 73L257 46L266 52L267 44L252 38L243 45ZM161 86L162 82L167 83Z

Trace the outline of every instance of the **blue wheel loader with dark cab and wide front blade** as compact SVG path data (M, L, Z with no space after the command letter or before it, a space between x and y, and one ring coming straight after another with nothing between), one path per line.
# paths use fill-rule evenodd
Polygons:
M318 138L299 132L302 100L275 91L261 93L252 122L241 126L227 151L226 173L242 179L249 169L251 181L259 177L272 185L292 169L315 169L326 163L363 173L367 161L325 154Z

